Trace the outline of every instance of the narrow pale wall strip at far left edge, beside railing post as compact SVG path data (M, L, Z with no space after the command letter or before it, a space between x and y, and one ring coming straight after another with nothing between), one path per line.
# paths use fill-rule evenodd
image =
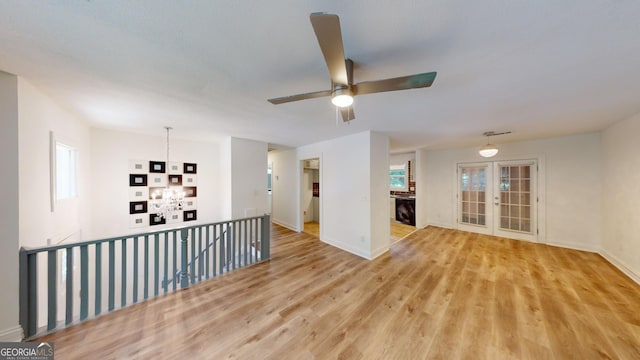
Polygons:
M0 71L0 341L20 341L18 325L19 144L18 78Z

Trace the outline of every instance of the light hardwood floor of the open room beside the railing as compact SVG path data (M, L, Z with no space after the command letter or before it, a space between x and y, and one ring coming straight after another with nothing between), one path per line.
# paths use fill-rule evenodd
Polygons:
M373 261L273 227L273 259L54 333L56 359L638 359L599 255L428 227Z

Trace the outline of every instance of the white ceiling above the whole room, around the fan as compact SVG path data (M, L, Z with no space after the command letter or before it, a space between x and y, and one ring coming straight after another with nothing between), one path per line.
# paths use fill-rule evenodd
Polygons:
M309 22L340 16L355 82L437 71L431 88L329 98ZM395 152L597 131L640 112L640 2L2 1L0 70L95 126L299 146L363 130Z

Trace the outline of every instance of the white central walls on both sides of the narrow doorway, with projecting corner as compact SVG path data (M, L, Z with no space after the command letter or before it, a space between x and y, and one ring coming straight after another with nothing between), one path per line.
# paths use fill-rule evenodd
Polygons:
M302 160L320 158L321 240L371 259L389 247L388 137L369 131L269 153L273 221L302 230Z

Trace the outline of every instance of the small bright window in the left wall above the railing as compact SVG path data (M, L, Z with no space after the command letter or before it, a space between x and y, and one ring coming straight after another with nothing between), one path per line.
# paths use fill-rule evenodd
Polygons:
M56 142L56 200L78 197L78 150Z

